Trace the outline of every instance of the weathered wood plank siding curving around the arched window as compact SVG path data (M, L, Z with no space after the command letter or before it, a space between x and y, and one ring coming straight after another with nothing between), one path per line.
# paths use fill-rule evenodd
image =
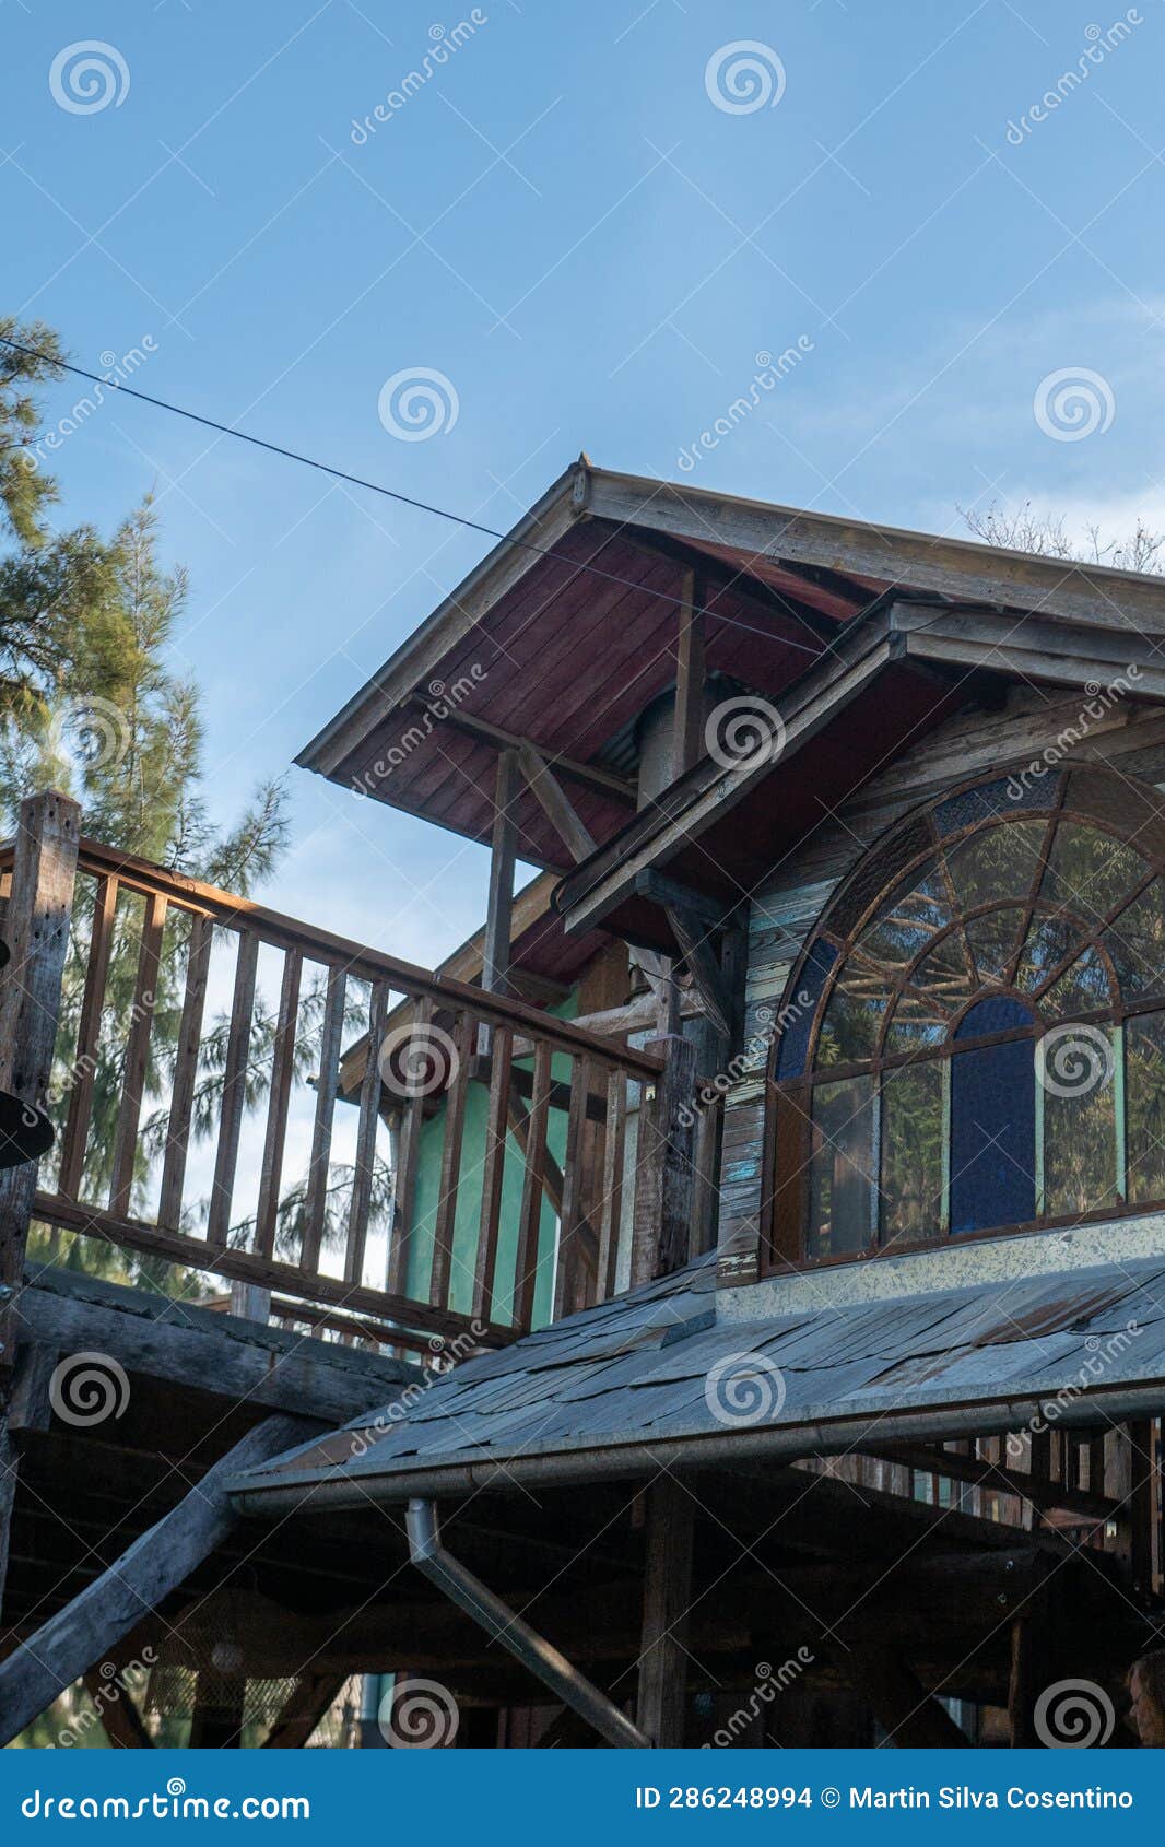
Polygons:
M1099 718L1087 694L1015 689L1003 709L967 709L916 750L855 787L853 796L774 866L750 907L744 1045L724 1106L720 1164L720 1278L757 1276L764 1197L764 1073L774 1020L792 964L822 907L877 837L916 802L969 776L1034 763L1043 752L1119 765L1165 781L1165 713L1132 700ZM1095 702L1093 702L1095 706ZM794 768L796 774L796 767Z

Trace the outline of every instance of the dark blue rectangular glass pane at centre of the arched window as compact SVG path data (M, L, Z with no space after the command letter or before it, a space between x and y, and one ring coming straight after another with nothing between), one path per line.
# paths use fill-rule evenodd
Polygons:
M951 1234L986 1232L1034 1217L1032 1040L956 1053L951 1060Z

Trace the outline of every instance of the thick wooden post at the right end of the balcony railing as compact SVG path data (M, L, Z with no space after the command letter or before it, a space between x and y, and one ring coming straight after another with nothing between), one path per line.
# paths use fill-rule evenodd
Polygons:
M652 1040L667 1058L654 1093L639 1106L635 1149L635 1228L631 1287L670 1276L687 1263L694 1201L692 1125L696 1121L696 1047L679 1034Z

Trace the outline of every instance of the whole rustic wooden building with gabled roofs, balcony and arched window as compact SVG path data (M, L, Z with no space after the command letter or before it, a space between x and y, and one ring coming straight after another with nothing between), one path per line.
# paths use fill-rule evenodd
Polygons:
M1163 635L1159 578L583 458L299 759L491 848L441 970L28 803L0 1082L59 1138L0 1180L2 1736L153 1646L192 1742L266 1688L303 1744L353 1673L432 1744L1049 1744L1065 1683L1123 1742L1165 1616ZM234 1311L30 1269L30 1221Z

